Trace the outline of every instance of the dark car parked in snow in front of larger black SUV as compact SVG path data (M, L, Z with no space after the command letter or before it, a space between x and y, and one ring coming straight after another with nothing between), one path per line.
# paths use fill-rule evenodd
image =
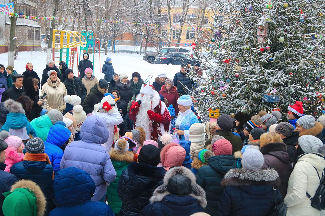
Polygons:
M158 55L154 63L167 65L187 65L186 63L188 61L191 62L192 66L199 62L197 59L191 58L184 53L169 53L166 55Z

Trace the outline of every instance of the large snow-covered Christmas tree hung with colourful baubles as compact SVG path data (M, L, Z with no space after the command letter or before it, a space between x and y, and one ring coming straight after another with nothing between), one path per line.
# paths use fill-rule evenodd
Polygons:
M325 0L216 1L215 10L210 54L200 56L206 77L196 78L203 113L286 113L296 100L322 113Z

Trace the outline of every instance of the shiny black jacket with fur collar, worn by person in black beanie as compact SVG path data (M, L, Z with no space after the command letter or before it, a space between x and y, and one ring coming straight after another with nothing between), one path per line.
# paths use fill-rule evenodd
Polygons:
M123 200L120 216L142 215L153 191L163 183L165 170L146 163L132 162L122 173L117 194ZM124 205L125 202L132 200Z

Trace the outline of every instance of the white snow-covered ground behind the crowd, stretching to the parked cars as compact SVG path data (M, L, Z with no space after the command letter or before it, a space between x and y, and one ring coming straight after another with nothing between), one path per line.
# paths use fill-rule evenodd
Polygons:
M79 55L79 52L78 52ZM93 55L90 55L90 60L93 59ZM99 53L95 54L95 63L94 63L94 72L95 76L98 78L104 78L104 74L101 73L101 68L106 60L106 57L110 57L112 59L112 65L114 67L115 73L125 72L129 75L129 79L131 79L131 74L133 72L138 72L141 74L141 78L145 80L149 75L153 77L150 79L154 81L155 77L159 73L166 73L168 78L174 78L175 73L180 71L179 65L164 65L164 64L149 64L148 62L142 59L142 55L139 54L128 54L128 53L108 53L105 55L103 53L100 54L99 61ZM74 61L74 74L77 76L77 60L75 56ZM57 60L56 60L57 61ZM8 62L8 53L0 54L0 64L7 66ZM25 71L25 66L27 62L31 62L33 64L34 71L41 78L43 69L46 66L46 53L44 52L20 52L18 54L18 59L15 60L15 70L22 74ZM59 63L55 63L57 67L59 67ZM100 70L99 70L100 67ZM151 84L152 82L150 82Z

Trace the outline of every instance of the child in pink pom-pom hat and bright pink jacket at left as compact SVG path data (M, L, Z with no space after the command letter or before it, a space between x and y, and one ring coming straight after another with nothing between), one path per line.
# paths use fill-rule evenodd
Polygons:
M8 145L8 148L5 150L5 164L7 165L5 171L10 173L12 165L24 160L25 155L22 153L22 150L24 149L22 139L17 136L11 136L9 132L5 130L0 132L0 139L5 141Z

